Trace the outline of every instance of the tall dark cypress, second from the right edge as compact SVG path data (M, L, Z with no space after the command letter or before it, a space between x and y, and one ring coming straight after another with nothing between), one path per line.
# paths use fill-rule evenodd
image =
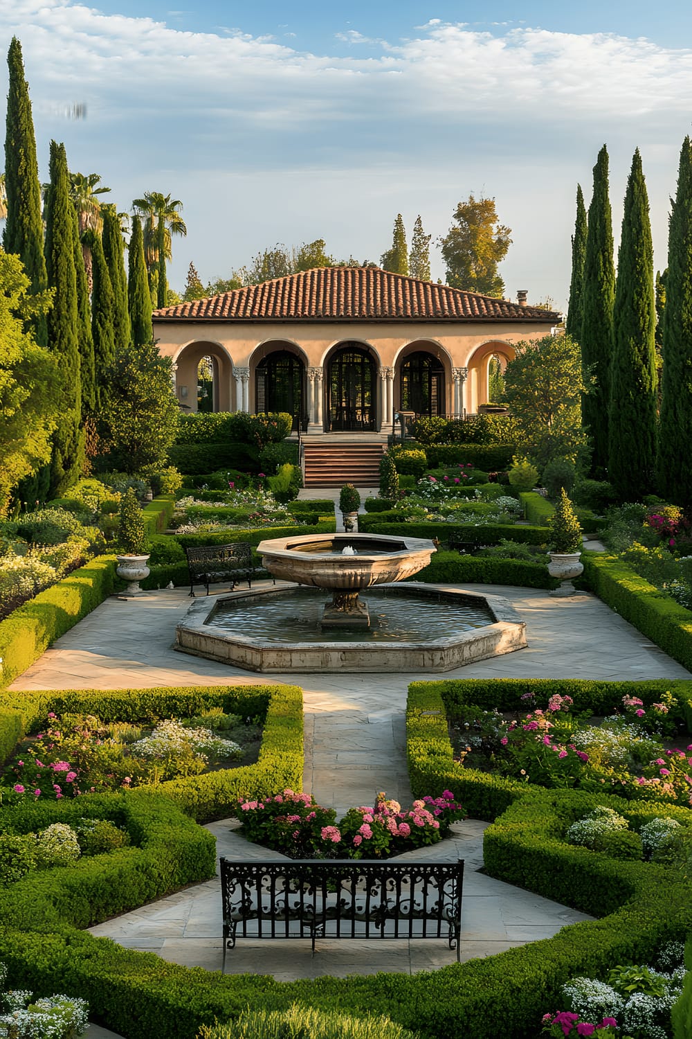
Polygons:
M632 159L617 254L610 369L608 478L624 501L651 494L656 469L654 247L639 149Z

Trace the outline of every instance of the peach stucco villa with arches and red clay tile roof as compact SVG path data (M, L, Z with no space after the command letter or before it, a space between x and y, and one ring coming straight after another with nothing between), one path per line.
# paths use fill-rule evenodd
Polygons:
M156 311L154 335L182 407L196 410L209 358L214 410L287 411L308 454L317 444L378 454L400 412L477 411L491 359L504 367L514 343L559 321L526 292L515 303L379 267L324 267Z

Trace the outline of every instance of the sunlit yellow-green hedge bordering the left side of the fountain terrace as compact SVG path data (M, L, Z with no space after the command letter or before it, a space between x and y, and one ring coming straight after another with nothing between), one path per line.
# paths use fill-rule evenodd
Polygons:
M52 642L103 603L116 583L115 557L96 556L0 621L0 687L13 682Z

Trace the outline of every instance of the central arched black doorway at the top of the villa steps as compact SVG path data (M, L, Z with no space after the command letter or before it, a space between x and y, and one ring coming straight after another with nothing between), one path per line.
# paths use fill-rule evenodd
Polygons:
M377 429L376 364L359 343L342 343L329 361L327 412L330 430Z

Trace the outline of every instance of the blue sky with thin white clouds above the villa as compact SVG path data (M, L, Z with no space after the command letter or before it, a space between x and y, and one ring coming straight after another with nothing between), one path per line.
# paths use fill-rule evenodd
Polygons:
M41 177L51 138L122 210L182 199L202 281L277 242L322 237L379 261L398 212L434 240L470 192L494 196L514 244L506 293L566 304L575 193L611 157L617 244L642 154L658 267L692 111L692 5L668 2L13 0ZM0 69L6 95L6 65ZM84 119L68 117L86 105ZM433 250L435 277L444 277Z

